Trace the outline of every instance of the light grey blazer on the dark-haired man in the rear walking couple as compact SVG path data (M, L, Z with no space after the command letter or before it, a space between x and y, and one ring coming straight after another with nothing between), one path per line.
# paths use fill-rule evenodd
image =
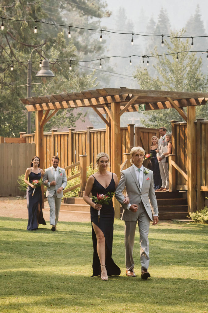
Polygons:
M50 186L50 182L55 180L52 166L46 168L45 173L43 175L43 182L47 179L48 183L45 184L45 186L47 186L46 197L52 197L59 187L63 187L65 189L67 185L66 172L65 169L61 167L57 167L57 178L55 186ZM61 191L60 193L56 192L57 198L62 198L63 196L64 196L63 191Z

